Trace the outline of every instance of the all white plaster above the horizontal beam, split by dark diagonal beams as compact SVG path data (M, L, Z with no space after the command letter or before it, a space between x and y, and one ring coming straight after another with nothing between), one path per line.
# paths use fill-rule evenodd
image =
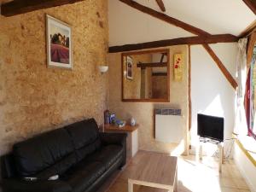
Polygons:
M160 11L155 0L136 0ZM256 19L242 0L163 0L166 15L212 34L239 35ZM108 0L109 45L137 44L168 38L194 36L150 15L132 9L119 0Z

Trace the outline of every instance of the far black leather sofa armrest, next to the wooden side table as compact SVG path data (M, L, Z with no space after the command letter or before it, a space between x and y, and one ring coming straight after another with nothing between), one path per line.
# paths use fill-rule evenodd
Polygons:
M110 132L101 132L100 138L103 145L108 144L118 144L123 147L126 146L126 133L110 133Z

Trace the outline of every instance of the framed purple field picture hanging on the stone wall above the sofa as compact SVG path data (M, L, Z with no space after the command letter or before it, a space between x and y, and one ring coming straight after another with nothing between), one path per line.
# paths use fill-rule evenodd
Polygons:
M72 69L72 30L67 23L46 15L48 67Z

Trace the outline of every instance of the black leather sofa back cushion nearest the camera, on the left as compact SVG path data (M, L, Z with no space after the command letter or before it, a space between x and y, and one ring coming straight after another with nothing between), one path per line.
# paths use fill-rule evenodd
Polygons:
M65 129L49 131L14 145L15 164L21 177L36 175L74 153Z

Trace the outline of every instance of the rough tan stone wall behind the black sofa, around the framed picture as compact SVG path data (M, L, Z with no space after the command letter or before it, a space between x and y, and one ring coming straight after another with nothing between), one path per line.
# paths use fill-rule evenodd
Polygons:
M46 67L45 15L73 29L73 70ZM13 143L73 123L102 123L108 76L108 1L0 16L0 154Z

